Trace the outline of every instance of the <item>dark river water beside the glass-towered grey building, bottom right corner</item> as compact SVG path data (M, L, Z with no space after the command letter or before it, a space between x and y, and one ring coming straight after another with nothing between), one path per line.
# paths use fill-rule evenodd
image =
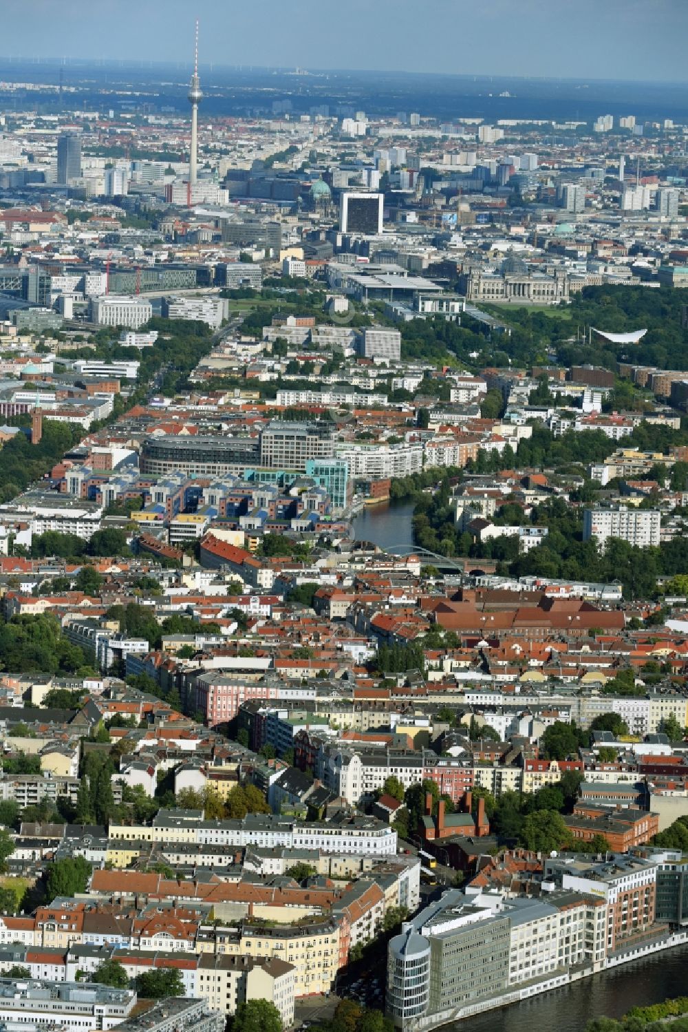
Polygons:
M685 995L687 975L688 945L678 946L445 1027L453 1032L584 1032L601 1014L621 1018L631 1007Z

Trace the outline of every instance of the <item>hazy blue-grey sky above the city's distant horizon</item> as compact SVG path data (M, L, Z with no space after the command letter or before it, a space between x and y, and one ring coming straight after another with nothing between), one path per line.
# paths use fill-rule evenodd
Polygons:
M1 56L688 82L688 0L0 0Z

